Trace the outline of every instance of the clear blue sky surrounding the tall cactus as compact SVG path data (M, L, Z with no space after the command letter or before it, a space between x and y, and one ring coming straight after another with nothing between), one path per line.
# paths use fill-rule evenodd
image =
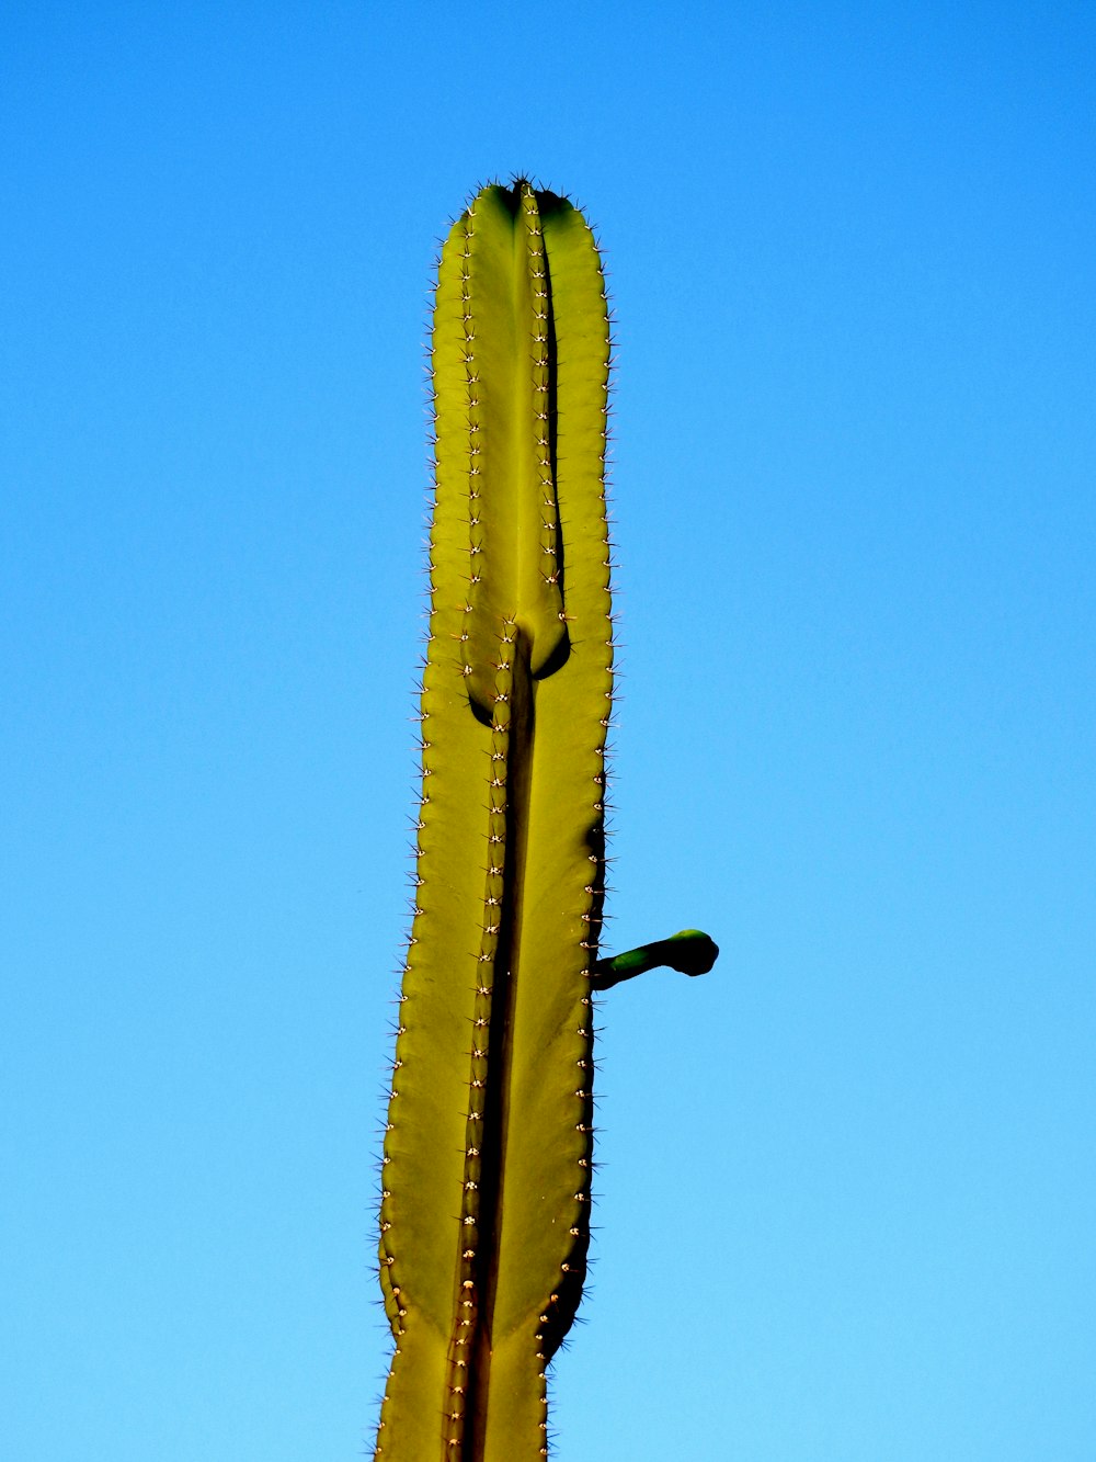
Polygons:
M1087 4L0 22L0 1458L354 1462L440 235L618 314L561 1462L1096 1458Z

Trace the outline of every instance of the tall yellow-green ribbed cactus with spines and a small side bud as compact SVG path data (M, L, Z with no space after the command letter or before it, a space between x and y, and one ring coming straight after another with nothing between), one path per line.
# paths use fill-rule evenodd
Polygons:
M612 694L609 319L566 199L482 189L434 300L435 500L414 924L384 1136L395 1336L376 1456L547 1455L547 1366L582 1295L592 991ZM681 963L684 961L684 963Z

